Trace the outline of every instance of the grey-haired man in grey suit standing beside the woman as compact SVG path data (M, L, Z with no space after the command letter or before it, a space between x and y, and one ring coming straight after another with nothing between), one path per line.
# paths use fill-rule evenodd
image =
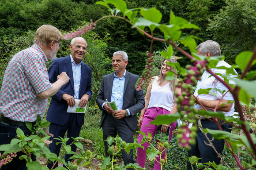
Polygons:
M112 66L115 72L103 76L101 88L97 97L97 105L103 111L101 126L105 154L109 156L107 139L108 136L118 135L127 143L133 142L133 131L137 129L136 113L144 108L143 90L136 90L135 85L139 78L128 71L125 67L128 64L128 56L124 51L117 51L113 54ZM119 110L113 111L107 104L108 101L115 101ZM136 99L136 103L135 103ZM124 164L135 163L133 149L127 154L122 150Z

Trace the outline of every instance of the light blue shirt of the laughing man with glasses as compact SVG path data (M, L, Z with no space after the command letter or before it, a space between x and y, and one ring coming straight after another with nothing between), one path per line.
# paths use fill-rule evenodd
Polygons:
M71 65L72 65L72 71L73 71L73 79L74 79L74 90L75 90L75 99L79 99L79 88L80 88L80 81L81 81L81 63L82 60L78 65L75 64L74 59L72 58L72 54L70 54L71 58Z

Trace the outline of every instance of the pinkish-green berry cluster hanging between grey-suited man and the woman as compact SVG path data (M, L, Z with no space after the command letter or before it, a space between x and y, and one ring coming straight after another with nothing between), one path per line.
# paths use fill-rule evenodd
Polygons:
M143 71L142 76L140 76L140 78L136 83L136 86L135 86L136 90L146 89L151 81L150 74L153 69L154 59L152 56L154 55L154 53L148 52L147 54L148 54L148 58L146 60L146 68Z

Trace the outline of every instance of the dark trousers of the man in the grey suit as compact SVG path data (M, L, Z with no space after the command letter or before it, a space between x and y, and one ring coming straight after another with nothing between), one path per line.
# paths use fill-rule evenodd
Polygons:
M125 122L124 118L122 119L115 119L113 115L106 114L104 122L102 123L102 130L103 130L103 140L104 140L104 147L105 147L105 154L108 154L108 142L105 141L109 136L116 137L118 135L125 141L126 143L133 143L133 130L128 126ZM124 160L124 165L129 163L135 163L133 159L133 149L130 150L129 154L126 151L122 150L122 156ZM133 168L128 168L128 170L133 170Z

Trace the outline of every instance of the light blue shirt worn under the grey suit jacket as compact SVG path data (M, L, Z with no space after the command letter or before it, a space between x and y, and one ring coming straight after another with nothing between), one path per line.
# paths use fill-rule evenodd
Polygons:
M116 76L116 72L114 74L111 101L115 101L115 103L117 104L118 110L123 109L125 73L126 73L126 70L124 71L122 78ZM104 105L105 105L105 102L103 103L102 108ZM128 114L131 115L129 109L127 110L128 110Z

